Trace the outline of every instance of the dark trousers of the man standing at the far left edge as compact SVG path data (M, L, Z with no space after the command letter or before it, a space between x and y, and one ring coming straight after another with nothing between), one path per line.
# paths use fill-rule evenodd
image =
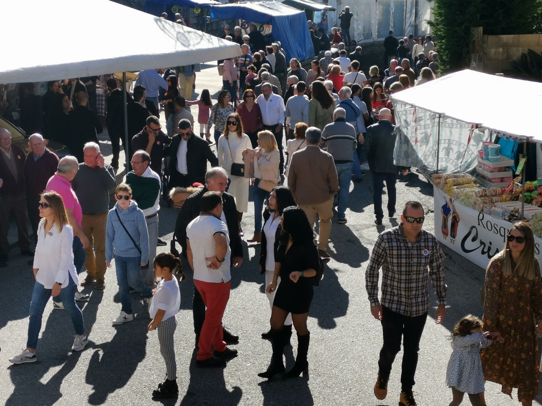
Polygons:
M3 226L3 232L2 235L0 235L0 254L2 256L7 256L10 250L8 230L10 219L13 217L15 217L15 222L17 223L17 244L21 252L27 251L28 248L30 248L30 239L28 238L28 215L26 208L27 197L25 193L18 195L2 195L2 206L0 207L0 217Z

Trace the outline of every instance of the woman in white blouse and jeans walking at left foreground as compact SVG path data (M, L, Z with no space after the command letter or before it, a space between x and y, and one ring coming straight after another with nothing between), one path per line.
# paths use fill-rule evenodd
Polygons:
M41 330L41 319L49 297L59 296L64 310L72 318L75 340L72 351L81 351L87 345L83 314L75 304L75 290L79 278L73 264L73 230L60 194L44 193L39 203L40 225L37 230L37 245L34 256L36 282L30 303L27 348L21 355L9 359L22 364L36 361L37 339Z

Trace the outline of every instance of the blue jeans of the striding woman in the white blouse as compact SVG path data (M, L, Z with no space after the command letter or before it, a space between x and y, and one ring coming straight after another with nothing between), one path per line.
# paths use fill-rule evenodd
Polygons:
M72 318L73 328L77 335L83 335L85 333L85 323L83 322L83 313L75 304L75 289L77 285L73 281L71 276L68 276L68 285L63 286L60 290L59 296L69 316ZM43 285L36 281L34 284L34 290L32 291L32 300L30 302L30 319L28 322L28 348L36 348L37 337L40 335L41 319L43 317L43 311L49 297L51 296L51 289L45 289Z

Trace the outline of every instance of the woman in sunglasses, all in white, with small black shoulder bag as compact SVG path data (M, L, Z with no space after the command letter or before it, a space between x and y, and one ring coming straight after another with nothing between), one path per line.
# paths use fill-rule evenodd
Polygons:
M237 208L237 222L239 223L239 234L243 236L241 229L241 220L243 213L248 211L248 186L249 179L244 175L240 176L238 172L239 166L234 166L234 175L232 173L232 165L234 163L241 164L244 167L243 151L247 148L252 148L252 142L247 134L243 133L241 119L237 113L231 113L226 119L226 128L224 133L218 139L218 165L228 172L230 178L230 186L228 193L235 199ZM237 171L235 171L237 169Z

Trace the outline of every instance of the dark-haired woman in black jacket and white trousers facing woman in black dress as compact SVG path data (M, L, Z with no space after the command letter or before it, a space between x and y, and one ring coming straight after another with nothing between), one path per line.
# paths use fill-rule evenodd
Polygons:
M260 273L266 274L266 284L269 286L273 281L275 274L275 253L276 248L279 246L280 238L282 235L282 228L279 227L282 213L284 209L289 206L296 206L295 199L290 189L286 186L277 186L273 189L269 196L269 204L263 211L263 227L262 227L262 245L260 248ZM280 284L280 277L277 279L277 285ZM273 310L273 300L275 299L274 292L267 292L267 299L269 305ZM289 340L292 337L292 315L288 313L284 322L284 329L286 333L286 339ZM262 333L263 339L271 339L272 331Z

